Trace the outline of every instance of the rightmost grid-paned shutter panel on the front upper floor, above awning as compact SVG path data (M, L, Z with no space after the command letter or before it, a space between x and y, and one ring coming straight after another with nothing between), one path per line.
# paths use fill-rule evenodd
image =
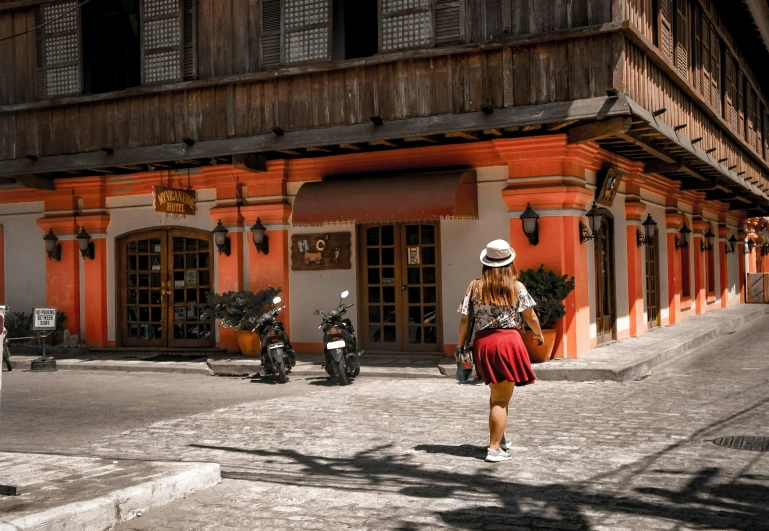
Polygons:
M431 0L380 0L382 52L434 45Z

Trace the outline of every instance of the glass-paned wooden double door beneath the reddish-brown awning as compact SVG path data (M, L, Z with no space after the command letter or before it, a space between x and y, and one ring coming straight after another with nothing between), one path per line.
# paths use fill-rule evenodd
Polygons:
M368 350L441 352L440 226L396 223L358 232L358 336Z

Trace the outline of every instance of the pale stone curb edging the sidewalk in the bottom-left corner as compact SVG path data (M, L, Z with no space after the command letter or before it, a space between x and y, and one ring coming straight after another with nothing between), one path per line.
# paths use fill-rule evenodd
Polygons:
M54 507L0 523L0 531L91 531L112 529L151 507L213 487L222 480L216 463L190 463L191 469L120 489L88 501Z

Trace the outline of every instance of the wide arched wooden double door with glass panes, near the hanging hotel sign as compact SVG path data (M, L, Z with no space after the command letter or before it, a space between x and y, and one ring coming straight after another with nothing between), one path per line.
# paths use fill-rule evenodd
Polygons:
M132 232L116 240L116 253L118 346L215 346L213 321L201 316L214 282L210 232Z

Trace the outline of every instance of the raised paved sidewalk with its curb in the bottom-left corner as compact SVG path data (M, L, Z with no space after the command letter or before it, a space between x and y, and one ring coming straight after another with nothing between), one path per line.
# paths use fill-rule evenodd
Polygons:
M0 452L0 531L92 531L221 481L213 463L167 463Z

